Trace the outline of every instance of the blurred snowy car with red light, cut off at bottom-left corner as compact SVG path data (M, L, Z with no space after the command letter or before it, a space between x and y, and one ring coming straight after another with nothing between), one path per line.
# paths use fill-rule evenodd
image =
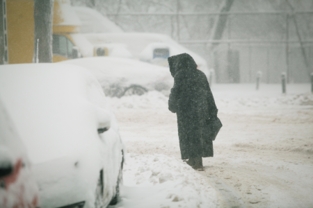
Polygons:
M38 186L14 122L0 100L0 207L38 205Z

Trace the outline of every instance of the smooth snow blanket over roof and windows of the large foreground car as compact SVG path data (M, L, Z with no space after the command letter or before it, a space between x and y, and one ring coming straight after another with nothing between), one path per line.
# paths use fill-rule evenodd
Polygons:
M69 64L1 66L0 99L33 164L93 148L109 105L94 76Z

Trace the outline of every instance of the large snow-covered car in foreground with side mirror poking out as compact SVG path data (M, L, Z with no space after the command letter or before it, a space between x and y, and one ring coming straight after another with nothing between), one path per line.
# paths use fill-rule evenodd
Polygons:
M95 77L83 67L0 67L0 99L24 141L40 207L106 207L122 180L118 123Z

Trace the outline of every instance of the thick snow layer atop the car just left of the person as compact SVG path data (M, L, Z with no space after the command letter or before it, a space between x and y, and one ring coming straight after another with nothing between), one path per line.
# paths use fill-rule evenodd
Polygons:
M102 87L118 83L124 87L141 85L147 89L154 89L157 83L167 83L169 87L172 87L173 82L168 67L159 67L129 58L79 58L60 63L75 64L89 69Z

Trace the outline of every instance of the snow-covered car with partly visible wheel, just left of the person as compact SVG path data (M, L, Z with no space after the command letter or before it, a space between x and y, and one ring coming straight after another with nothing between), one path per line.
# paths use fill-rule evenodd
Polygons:
M141 95L150 90L169 90L173 85L168 67L129 58L79 58L60 63L88 69L102 85L107 96Z

